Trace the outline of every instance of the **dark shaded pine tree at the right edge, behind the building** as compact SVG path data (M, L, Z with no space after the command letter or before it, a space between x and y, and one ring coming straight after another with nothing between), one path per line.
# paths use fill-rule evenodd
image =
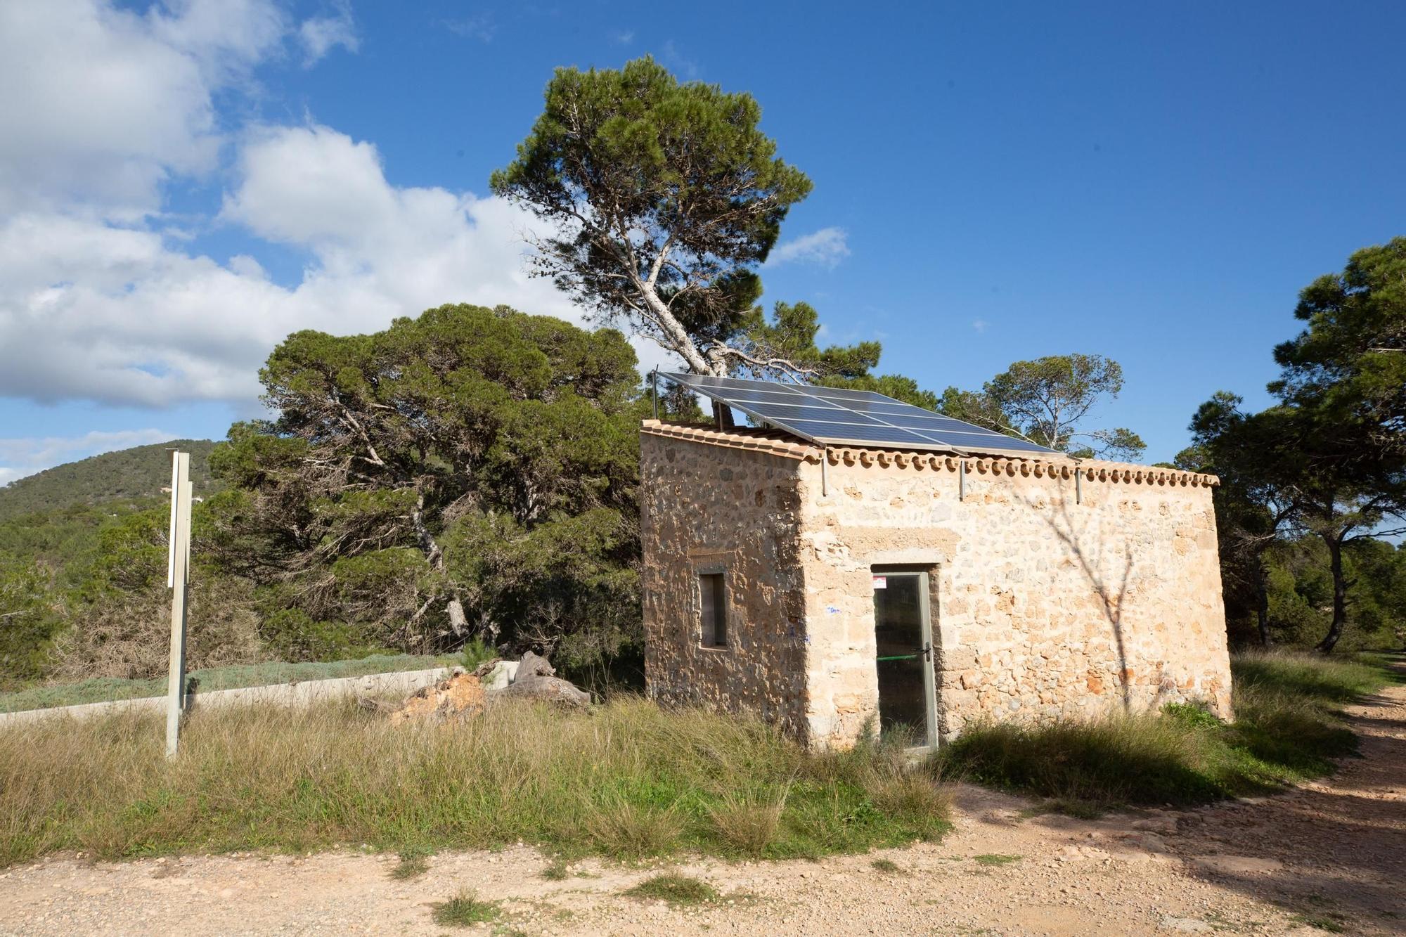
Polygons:
M1216 491L1222 566L1227 581L1237 563L1257 581L1263 639L1265 537L1282 529L1322 542L1330 616L1317 647L1331 651L1350 619L1350 550L1406 533L1406 238L1316 279L1295 315L1308 328L1274 352L1279 402L1246 415L1218 394L1192 421L1184 457L1229 481Z

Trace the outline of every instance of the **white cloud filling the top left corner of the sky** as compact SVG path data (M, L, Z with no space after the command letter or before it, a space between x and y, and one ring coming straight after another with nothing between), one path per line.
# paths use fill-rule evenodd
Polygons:
M0 3L0 214L155 211L170 174L215 166L211 96L283 30L269 0L187 0L145 15L101 0Z

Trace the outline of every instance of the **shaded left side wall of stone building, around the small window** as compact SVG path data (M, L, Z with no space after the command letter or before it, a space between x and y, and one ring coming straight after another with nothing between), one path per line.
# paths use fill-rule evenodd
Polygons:
M804 737L801 447L748 450L643 433L645 682L652 699L749 710ZM720 571L728 644L702 647L697 575Z

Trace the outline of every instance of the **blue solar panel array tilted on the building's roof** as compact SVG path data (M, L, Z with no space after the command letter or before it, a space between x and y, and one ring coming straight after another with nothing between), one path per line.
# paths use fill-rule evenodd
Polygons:
M706 374L664 377L740 409L758 423L821 445L901 446L957 454L1060 454L873 391Z

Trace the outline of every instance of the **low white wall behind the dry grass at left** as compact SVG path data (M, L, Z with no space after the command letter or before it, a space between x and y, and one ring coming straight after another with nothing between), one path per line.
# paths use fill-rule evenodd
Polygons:
M422 687L444 680L451 673L450 667L436 667L433 670L409 670L391 674L366 674L364 677L339 677L336 680L305 680L294 684L267 684L264 687L242 687L239 689L211 689L195 692L190 696L188 705L193 712L201 709L215 709L219 706L245 705L253 702L270 702L280 706L307 706L323 699L335 699L360 694L364 696L377 694L409 695ZM79 706L51 706L48 709L24 709L21 712L0 713L0 729L17 726L41 719L67 716L70 719L89 719L104 716L122 709L149 709L152 712L166 710L166 696L142 696L138 699L114 699L111 702L83 703Z

